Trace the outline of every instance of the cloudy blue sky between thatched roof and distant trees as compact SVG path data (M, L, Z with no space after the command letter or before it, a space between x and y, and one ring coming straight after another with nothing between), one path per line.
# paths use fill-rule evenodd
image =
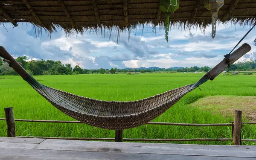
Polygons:
M135 32L121 33L118 44L115 32L102 35L71 35L58 30L51 38L43 31L42 36L35 37L35 29L26 23L19 23L13 28L11 24L0 26L0 46L14 57L26 55L29 59L53 59L62 63L77 63L86 69L98 68L138 68L138 67L213 67L229 53L236 43L249 30L239 25L218 25L214 39L211 27L204 33L200 29L172 28L168 43L163 30L152 27L138 28ZM243 43L251 45L252 50L239 61L256 58L256 46L253 41L256 30L253 29ZM241 44L239 46L241 46Z

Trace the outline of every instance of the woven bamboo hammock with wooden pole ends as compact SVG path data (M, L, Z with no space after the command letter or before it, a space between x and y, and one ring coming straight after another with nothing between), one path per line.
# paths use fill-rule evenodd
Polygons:
M128 102L90 99L44 86L29 75L3 47L0 47L0 56L58 110L88 125L117 130L134 128L155 119L184 95L207 80L213 80L223 70L227 69L230 64L233 64L241 56L249 52L250 49L250 45L243 44L235 52L228 54L223 61L194 84L169 90L145 99Z

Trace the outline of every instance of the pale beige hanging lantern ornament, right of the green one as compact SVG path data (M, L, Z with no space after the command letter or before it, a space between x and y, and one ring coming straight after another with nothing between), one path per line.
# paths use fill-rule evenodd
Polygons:
M212 38L216 35L218 10L224 5L224 0L204 0L204 6L212 13Z

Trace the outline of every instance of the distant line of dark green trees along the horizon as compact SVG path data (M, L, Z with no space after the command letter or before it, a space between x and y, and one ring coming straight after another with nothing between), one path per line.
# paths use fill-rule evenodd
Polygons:
M98 69L98 70L87 70L82 69L77 64L74 68L70 64L62 64L61 61L53 60L32 60L26 61L26 56L18 57L17 62L20 62L22 67L31 75L70 75L70 74L92 74L92 73L127 73L127 72L140 72L140 73L150 73L150 72L208 72L211 68L204 67L183 67L183 68L153 68L153 69ZM250 60L246 62L238 62L237 64L232 64L229 71L248 71L256 70L256 60ZM15 70L9 67L9 64L3 62L0 59L0 75L17 75Z

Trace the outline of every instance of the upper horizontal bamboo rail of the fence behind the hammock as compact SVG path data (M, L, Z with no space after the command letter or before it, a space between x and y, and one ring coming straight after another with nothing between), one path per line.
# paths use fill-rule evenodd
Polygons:
M5 120L0 118L0 120ZM47 123L83 123L80 121L57 121L57 120L33 120L33 119L15 119L17 122L47 122ZM194 123L167 123L167 122L148 122L146 125L180 125L180 126L232 126L232 123L216 124L194 124Z

